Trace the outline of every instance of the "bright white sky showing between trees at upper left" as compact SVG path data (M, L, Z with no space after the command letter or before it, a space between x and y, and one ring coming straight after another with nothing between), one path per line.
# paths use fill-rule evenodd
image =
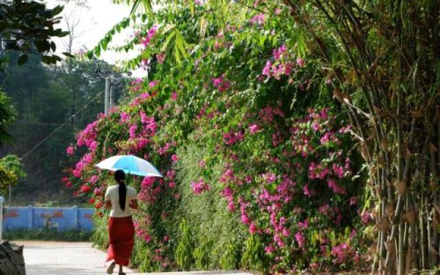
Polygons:
M53 8L55 5L59 5L62 2L58 0L46 0L47 7ZM59 28L67 30L67 23L65 20L69 18L69 24L77 23L76 30L74 31L73 51L78 52L81 49L90 50L104 37L105 34L113 25L119 23L128 17L131 7L129 5L116 5L111 0L88 0L87 7L81 7L76 5L75 1L69 1L65 4L65 8L61 16L64 18L58 25ZM113 43L111 45L124 45L124 41L129 39L129 36L133 34L133 30L125 30L121 34L115 35ZM67 36L64 38L54 39L57 45L57 52L65 52L67 47ZM101 52L100 59L109 63L118 63L129 58L135 57L136 52L117 53L113 51ZM133 72L135 76L142 76L144 72L137 70Z

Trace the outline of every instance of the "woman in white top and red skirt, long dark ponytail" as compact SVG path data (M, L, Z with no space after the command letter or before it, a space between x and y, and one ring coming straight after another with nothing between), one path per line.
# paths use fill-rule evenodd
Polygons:
M130 208L137 209L137 194L134 188L125 185L124 179L124 171L116 170L115 180L118 184L109 186L105 192L107 208L111 208L107 261L113 261L107 269L107 274L112 274L115 265L119 265L119 275L125 275L122 266L129 265L134 245L135 228Z

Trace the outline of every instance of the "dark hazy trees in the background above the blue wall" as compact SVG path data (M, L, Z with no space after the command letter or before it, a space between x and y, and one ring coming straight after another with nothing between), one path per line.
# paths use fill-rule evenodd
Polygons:
M5 124L15 142L5 144L0 153L24 156L24 170L32 179L13 188L12 204L43 203L48 200L60 201L63 206L81 203L73 199L71 192L60 183L63 169L69 165L65 144L74 142L79 129L103 111L101 96L104 80L95 71L97 67L103 71L113 67L103 61L85 60L83 56L69 58L53 67L45 67L39 58L31 56L26 64L18 66L17 54L9 52L8 56L10 62L0 72L0 83L3 83L5 91L0 96L0 116L7 114L1 108L4 106L1 102L7 94L10 98L8 102L12 102L17 110L17 118L13 123ZM120 89L117 88L115 100L119 97ZM7 110L13 111L11 108L8 103ZM63 123L61 129L34 148ZM0 125L0 143L4 130ZM32 148L34 150L30 152Z

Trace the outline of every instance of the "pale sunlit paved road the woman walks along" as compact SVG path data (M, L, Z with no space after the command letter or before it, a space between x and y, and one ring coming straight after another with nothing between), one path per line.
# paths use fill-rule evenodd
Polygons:
M52 241L19 241L23 250L28 275L96 275L107 274L105 253L91 247L91 243L67 243ZM115 273L118 274L117 267ZM126 274L140 275L131 270ZM151 275L161 273L151 273ZM170 274L233 274L250 275L244 272L170 272Z

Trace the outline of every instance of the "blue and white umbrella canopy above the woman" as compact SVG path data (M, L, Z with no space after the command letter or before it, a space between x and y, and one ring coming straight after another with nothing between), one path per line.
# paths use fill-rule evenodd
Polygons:
M96 164L106 170L124 170L125 173L142 177L164 177L151 163L134 155L115 155Z

